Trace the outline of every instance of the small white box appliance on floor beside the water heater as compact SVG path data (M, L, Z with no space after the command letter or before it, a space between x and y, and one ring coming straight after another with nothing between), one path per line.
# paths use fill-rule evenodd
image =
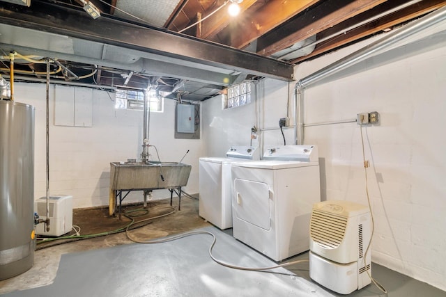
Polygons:
M49 196L49 232L45 224L36 225L36 234L61 236L72 230L72 195ZM47 198L41 197L34 202L34 209L40 218L47 218Z

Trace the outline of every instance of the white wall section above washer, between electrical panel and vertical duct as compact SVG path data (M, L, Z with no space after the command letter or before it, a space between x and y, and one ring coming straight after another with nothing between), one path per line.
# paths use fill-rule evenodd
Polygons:
M291 85L290 85L291 86ZM289 83L263 79L252 86L252 103L222 110L222 97L203 102L203 145L206 156L224 156L231 145L249 145L251 128L262 130L252 145L283 145L279 119L286 118L287 105L293 122L293 99ZM258 93L259 96L255 94ZM290 102L289 102L290 99ZM263 129L267 129L263 131ZM273 129L273 130L270 130ZM286 143L294 141L293 129L284 129ZM261 153L262 154L262 153Z

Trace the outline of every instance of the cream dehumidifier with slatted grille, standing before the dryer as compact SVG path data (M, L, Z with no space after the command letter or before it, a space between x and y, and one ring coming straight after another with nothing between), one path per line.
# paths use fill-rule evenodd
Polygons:
M309 276L339 294L371 282L369 207L348 201L314 204L310 221ZM367 271L366 271L367 269Z

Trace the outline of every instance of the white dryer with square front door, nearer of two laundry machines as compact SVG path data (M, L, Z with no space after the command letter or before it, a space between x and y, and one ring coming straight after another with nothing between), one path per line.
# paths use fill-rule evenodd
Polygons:
M233 236L275 261L309 250L321 201L315 145L271 147L261 161L231 163Z

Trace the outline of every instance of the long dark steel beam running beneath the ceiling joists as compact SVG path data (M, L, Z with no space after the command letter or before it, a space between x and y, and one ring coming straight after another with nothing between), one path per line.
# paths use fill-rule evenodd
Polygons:
M50 31L71 38L157 54L160 57L178 58L232 72L246 72L283 81L293 79L293 67L286 62L152 26L127 24L105 16L92 19L83 10L62 8L45 1L36 2L38 5L29 8L23 6L1 9L0 23L36 31Z

